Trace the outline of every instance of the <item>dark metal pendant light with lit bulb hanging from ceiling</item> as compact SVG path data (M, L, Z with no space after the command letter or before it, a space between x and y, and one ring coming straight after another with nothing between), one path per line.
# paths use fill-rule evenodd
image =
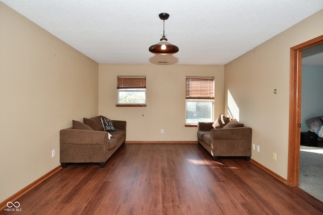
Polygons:
M167 13L159 14L159 18L164 21L164 32L163 37L161 37L160 42L149 47L149 51L154 54L168 55L175 54L178 52L178 47L173 45L172 43L167 42L167 38L165 37L165 20L170 17Z

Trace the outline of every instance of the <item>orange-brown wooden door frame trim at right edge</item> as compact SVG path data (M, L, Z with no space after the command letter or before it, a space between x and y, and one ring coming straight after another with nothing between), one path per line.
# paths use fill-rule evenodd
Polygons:
M289 145L287 184L299 185L302 50L323 43L323 35L290 49Z

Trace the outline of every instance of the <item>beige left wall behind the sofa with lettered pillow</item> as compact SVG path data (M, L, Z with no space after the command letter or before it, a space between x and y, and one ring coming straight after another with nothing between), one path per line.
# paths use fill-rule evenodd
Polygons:
M2 202L60 165L60 129L97 115L98 64L3 3L0 26Z

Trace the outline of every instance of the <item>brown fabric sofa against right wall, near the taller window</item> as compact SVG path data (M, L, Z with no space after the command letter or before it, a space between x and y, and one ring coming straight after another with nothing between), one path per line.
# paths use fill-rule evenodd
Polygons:
M212 122L199 122L197 127L198 142L211 154L214 161L217 161L219 156L243 156L247 161L250 160L252 136L250 127L214 129Z

